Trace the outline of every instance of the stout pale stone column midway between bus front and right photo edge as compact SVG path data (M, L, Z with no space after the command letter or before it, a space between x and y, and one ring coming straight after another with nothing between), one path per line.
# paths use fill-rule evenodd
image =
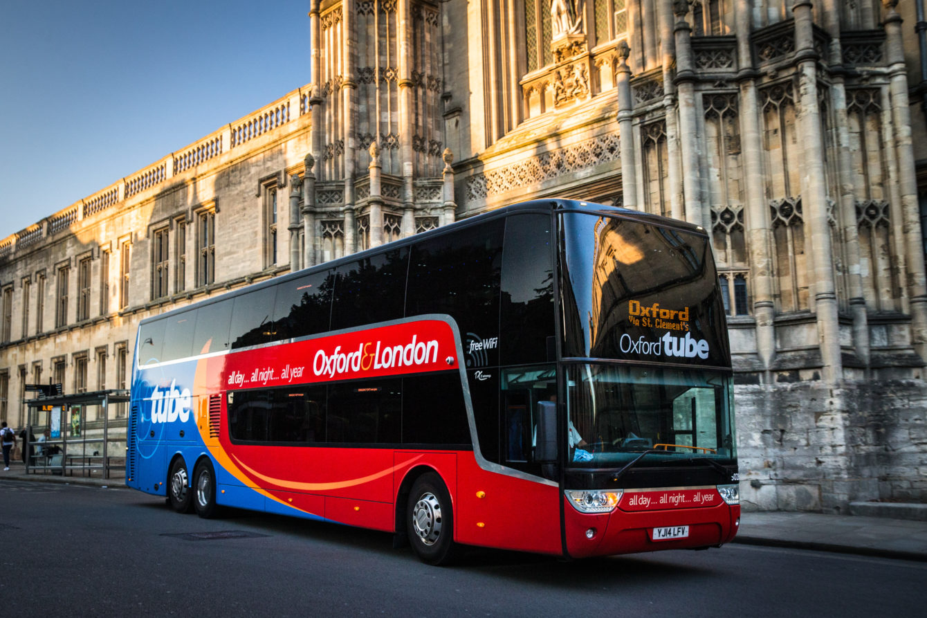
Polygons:
M811 2L796 0L792 6L795 27L795 61L798 65L798 135L802 136L802 208L811 239L811 272L814 311L823 380L835 384L843 377L837 293L833 279L831 230L827 219L823 135L818 104L818 54L814 49Z

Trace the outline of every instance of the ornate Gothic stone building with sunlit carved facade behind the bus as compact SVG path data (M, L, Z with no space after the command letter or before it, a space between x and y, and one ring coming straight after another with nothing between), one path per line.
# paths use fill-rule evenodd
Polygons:
M922 502L927 44L898 4L311 0L311 84L0 241L0 417L27 382L124 387L147 315L556 195L711 230L747 508Z

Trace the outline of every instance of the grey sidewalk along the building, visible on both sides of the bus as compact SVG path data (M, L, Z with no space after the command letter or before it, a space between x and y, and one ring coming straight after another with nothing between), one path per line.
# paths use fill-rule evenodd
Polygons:
M0 470L0 481L4 479L125 488L122 478L26 474L21 461L12 462L6 472ZM927 506L912 505L911 508L927 509ZM880 509L880 512L886 510L891 512L891 509ZM733 542L927 561L927 521L802 512L743 512L741 528Z

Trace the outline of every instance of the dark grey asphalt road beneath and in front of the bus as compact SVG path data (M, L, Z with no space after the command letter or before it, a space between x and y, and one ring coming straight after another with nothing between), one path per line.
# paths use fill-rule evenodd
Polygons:
M220 534L221 533L221 534ZM389 534L127 489L0 481L5 615L919 615L927 564L727 546L564 562L475 549L430 567Z

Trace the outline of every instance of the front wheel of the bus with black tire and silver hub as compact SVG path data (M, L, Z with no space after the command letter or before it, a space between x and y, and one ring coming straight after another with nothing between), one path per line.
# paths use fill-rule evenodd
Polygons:
M435 472L413 483L406 509L406 534L413 551L426 564L450 564L459 554L454 543L451 495Z

